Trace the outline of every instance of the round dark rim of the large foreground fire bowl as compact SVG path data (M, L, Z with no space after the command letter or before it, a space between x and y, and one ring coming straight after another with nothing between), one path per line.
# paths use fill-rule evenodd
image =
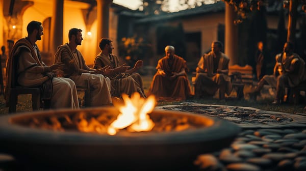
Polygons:
M69 112L78 111L92 111L92 110L103 110L110 107L97 107L97 108L86 108L86 109L74 109L68 110ZM113 109L113 108L112 108ZM43 114L48 113L60 113L67 109L56 109L43 111ZM173 111L166 111L155 109L153 112L164 112L173 113ZM216 139L222 139L226 137L236 136L240 131L240 128L228 121L221 120L218 118L211 118L207 116L200 116L194 113L175 111L177 115L193 116L203 119L209 119L214 122L212 126L201 127L195 130L186 131L170 131L170 132L138 132L131 133L129 136L122 135L107 135L107 134L97 134L97 133L83 133L77 131L54 131L54 130L42 130L34 129L30 127L24 127L17 124L10 123L12 118L15 117L27 117L27 116L37 116L43 115L42 111L35 112L24 112L24 113L14 113L13 115L6 115L0 117L0 136L5 139L15 139L21 141L29 142L43 142L47 144L89 144L98 145L103 142L104 145L137 145L137 144L183 144L186 141L189 142L199 142L199 141L213 141ZM56 115L56 114L55 114ZM5 131L4 131L5 130ZM226 130L226 133L218 134L217 136L212 132L222 132ZM32 138L29 138L32 137ZM78 139L77 141L75 139Z

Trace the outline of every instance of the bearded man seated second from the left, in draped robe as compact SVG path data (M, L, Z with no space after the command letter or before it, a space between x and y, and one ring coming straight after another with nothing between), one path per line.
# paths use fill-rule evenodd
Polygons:
M86 86L85 80L89 81L92 89L90 91L91 106L110 105L112 103L111 80L104 76L110 73L109 66L96 70L85 64L83 55L77 49L83 40L81 29L70 29L68 38L69 43L59 46L55 53L55 62L65 64L62 76L71 78L77 86Z

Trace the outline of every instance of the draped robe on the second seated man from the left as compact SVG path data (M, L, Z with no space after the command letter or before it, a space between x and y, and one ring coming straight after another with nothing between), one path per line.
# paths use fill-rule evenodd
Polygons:
M55 53L55 63L63 63L66 59L71 61L70 65L74 65L73 68L84 69L85 60L81 52L76 49L77 56L74 56L68 44L64 44L58 47ZM63 76L72 79L77 86L86 86L85 80L90 84L90 105L91 106L103 106L112 104L111 92L110 92L110 79L101 74L79 73L65 66L63 69Z

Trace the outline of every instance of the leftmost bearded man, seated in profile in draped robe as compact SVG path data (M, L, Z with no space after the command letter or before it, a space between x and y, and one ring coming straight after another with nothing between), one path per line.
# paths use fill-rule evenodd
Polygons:
M42 98L50 99L51 108L79 108L74 82L69 78L55 77L56 70L64 64L48 67L41 61L39 49L35 44L43 35L41 22L31 21L27 32L28 37L19 39L13 46L7 62L6 100L9 100L10 88L15 86L42 86Z

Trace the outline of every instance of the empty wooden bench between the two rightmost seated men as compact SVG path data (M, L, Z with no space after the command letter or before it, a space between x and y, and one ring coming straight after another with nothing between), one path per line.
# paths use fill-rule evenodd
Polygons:
M244 67L232 65L228 67L228 75L232 78L233 89L236 90L237 98L244 98L245 84L253 85L253 68L249 65Z

